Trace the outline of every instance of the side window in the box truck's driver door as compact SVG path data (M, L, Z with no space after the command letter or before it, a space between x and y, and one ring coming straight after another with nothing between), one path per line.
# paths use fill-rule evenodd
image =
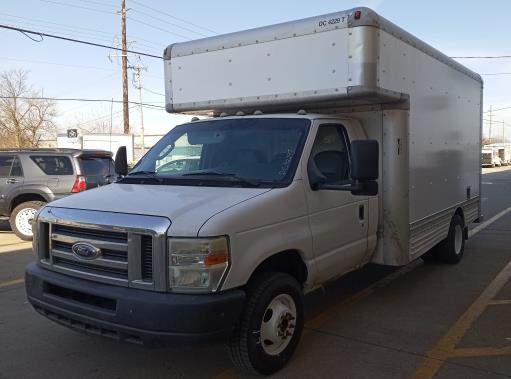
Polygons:
M347 136L342 125L321 125L318 129L311 159L326 184L350 182L350 161Z

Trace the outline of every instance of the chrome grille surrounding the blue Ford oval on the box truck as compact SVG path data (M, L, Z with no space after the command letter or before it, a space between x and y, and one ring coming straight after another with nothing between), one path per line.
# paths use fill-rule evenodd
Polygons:
M38 254L49 269L109 284L166 290L167 219L45 207L37 221ZM99 256L76 255L72 247L77 242L100 249Z

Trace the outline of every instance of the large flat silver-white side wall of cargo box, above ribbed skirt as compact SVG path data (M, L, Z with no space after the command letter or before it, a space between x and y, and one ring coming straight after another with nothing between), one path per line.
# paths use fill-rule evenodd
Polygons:
M410 222L480 196L481 84L380 31L379 84L410 95Z

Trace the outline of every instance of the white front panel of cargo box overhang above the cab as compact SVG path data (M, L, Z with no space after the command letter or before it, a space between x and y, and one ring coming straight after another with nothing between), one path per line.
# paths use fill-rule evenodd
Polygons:
M169 63L171 62L171 63ZM175 57L172 103L203 103L348 86L348 29ZM169 75L169 73L171 75ZM349 84L353 85L353 84ZM167 99L168 102L169 99Z

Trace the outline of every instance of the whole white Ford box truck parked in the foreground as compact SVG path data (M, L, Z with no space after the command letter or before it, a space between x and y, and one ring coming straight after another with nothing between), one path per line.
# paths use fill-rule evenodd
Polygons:
M215 117L40 211L37 311L148 345L225 337L238 367L270 374L304 293L369 262L461 259L480 214L479 75L367 8L164 58L168 111Z

